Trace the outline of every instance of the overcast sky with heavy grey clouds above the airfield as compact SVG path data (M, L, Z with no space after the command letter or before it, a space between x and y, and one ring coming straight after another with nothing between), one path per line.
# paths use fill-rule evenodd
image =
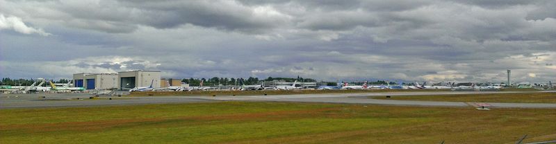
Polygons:
M556 1L0 0L0 77L556 81Z

